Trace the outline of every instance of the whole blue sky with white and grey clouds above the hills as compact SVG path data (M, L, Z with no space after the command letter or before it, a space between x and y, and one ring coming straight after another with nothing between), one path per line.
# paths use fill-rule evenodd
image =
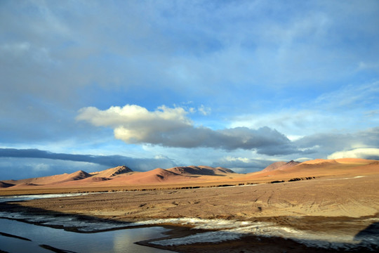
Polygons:
M379 160L379 1L0 1L0 180Z

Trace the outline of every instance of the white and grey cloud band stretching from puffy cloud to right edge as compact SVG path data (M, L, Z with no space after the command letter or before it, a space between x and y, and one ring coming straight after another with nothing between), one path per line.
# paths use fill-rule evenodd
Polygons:
M107 110L87 107L77 120L114 130L114 137L126 143L161 145L171 148L214 148L227 151L252 150L261 155L317 154L345 155L348 150L360 157L379 157L379 127L353 133L326 133L302 136L291 141L276 129L234 127L213 130L197 126L184 108L164 105L149 111L139 105L112 106Z

